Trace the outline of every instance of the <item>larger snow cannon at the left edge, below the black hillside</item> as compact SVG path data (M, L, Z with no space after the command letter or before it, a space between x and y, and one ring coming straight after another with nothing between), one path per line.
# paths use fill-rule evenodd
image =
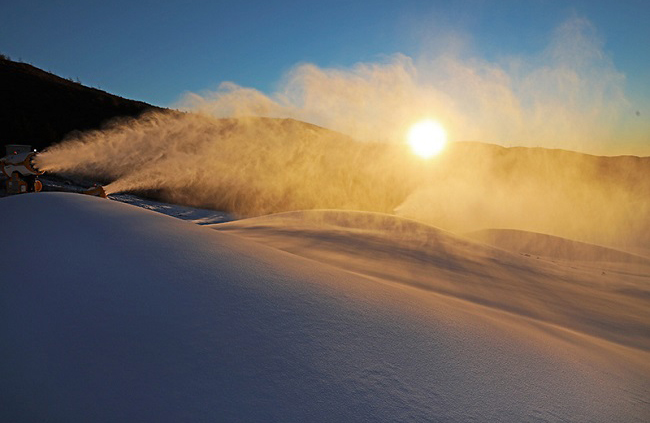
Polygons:
M5 189L7 194L22 194L24 192L39 192L43 188L37 179L43 174L34 164L36 150L29 145L11 144L6 147L6 155L0 159L0 172L7 178Z

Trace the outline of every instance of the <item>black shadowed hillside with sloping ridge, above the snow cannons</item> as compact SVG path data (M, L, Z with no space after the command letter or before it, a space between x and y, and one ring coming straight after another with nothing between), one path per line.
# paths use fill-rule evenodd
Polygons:
M0 146L31 144L42 150L71 131L97 129L117 116L161 110L2 56L0 92Z

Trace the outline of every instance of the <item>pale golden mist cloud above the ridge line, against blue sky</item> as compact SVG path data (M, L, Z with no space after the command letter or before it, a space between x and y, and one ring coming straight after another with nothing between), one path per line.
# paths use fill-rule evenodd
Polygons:
M402 142L411 124L434 118L453 140L650 153L642 120L629 119L635 110L625 76L588 20L566 21L536 54L497 61L453 39L417 58L395 54L350 68L300 64L271 95L229 82L187 94L178 107L217 117L293 117L360 140Z

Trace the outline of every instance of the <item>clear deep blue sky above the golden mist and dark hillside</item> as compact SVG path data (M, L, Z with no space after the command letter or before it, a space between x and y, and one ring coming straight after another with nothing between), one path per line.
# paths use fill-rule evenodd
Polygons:
M0 52L110 92L166 106L234 81L265 92L297 63L346 67L420 54L436 32L491 59L544 47L578 15L593 22L631 95L650 96L650 2L16 1Z

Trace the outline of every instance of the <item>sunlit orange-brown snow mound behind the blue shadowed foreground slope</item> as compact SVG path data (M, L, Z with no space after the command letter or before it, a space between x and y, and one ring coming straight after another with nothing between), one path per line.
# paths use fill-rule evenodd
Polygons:
M556 256L571 253L561 261L525 255L525 249L512 254L413 220L368 212L290 212L211 227L356 274L650 350L650 260L639 256L561 238L531 243L554 248ZM503 234L508 246L546 239L521 231L512 238ZM605 253L609 262L573 261Z

